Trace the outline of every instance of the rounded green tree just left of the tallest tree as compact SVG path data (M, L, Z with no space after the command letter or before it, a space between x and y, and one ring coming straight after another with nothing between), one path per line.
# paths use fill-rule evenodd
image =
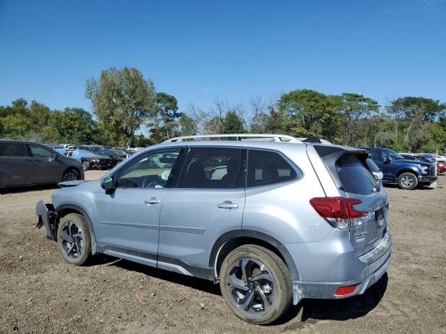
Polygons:
M95 122L84 109L66 108L51 113L44 133L54 143L89 144L94 141Z

